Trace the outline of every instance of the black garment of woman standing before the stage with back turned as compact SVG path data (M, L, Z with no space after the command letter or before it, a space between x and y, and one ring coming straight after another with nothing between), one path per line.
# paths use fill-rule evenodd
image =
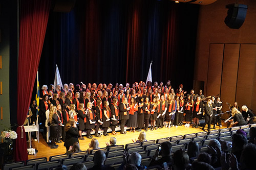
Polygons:
M69 130L66 132L66 139L65 139L65 143L64 146L67 148L69 148L70 146L72 146L75 142L78 142L78 129L74 128L74 127L70 127Z

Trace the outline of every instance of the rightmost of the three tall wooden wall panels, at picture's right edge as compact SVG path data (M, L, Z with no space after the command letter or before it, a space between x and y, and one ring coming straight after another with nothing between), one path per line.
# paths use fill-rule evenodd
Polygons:
M256 60L256 44L241 44L236 100L240 106L251 107L254 71Z

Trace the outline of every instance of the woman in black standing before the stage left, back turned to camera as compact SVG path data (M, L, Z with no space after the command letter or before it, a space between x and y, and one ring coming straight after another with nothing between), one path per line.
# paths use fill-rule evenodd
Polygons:
M79 133L75 124L75 119L69 119L69 122L65 126L65 131L66 131L66 138L65 138L64 146L66 147L68 152L70 146L72 146L74 142L79 142L78 140Z

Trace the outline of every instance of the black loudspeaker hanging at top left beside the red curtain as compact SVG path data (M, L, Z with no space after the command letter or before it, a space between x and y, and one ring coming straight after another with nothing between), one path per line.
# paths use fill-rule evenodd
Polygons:
M54 0L52 9L54 12L70 12L75 6L76 0Z

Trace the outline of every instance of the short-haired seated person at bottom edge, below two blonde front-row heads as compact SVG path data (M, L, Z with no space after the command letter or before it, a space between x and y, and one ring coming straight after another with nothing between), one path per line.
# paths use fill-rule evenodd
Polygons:
M96 151L93 156L94 166L90 169L100 170L100 169L115 169L111 166L105 166L106 155L103 151Z

